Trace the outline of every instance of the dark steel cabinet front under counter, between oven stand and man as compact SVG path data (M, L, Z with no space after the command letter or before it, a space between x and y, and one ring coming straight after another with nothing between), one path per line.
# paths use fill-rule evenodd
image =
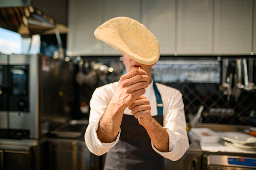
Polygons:
M49 170L102 169L101 156L89 151L80 138L49 138ZM68 161L67 161L68 160Z

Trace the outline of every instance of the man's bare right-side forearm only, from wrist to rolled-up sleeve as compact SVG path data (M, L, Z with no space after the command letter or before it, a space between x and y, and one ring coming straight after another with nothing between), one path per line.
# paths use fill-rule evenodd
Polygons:
M169 135L168 132L152 118L151 125L144 126L155 148L161 152L169 151Z

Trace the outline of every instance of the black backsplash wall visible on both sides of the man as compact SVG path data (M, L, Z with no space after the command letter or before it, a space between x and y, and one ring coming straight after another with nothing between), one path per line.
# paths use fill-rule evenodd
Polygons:
M164 60L169 58L163 57ZM190 58L189 60L191 60ZM194 60L201 60L201 58L193 58ZM212 58L214 60L216 58ZM103 63L107 66L111 64L120 62L120 57L84 57L82 58L84 62L89 62L91 64ZM171 60L175 60L171 58ZM186 60L186 59L185 59ZM93 61L93 62L92 62ZM221 64L221 62L220 62ZM254 69L255 70L255 69ZM78 66L77 66L78 72ZM83 73L87 73L88 70L83 68ZM255 73L255 72L254 72ZM77 103L77 114L74 118L89 117L89 113L82 114L79 110L79 105L81 101L86 101L88 104L90 102L91 96L94 90L107 83L118 81L120 74L108 73L105 74L105 81L102 81L100 74L97 74L98 82L96 85L84 84L76 88L76 103ZM255 77L255 74L254 74ZM198 83L198 82L160 82L167 86L174 87L181 91L183 94L183 100L185 105L185 114L187 121L189 115L195 115L201 105L204 106L202 117L204 123L223 123L223 124L241 124L256 126L256 94L254 92L242 91L238 100L235 101L233 96L230 96L230 100L227 101L227 96L223 95L222 91L219 90L220 83ZM228 112L218 111L218 109L231 109L233 112L229 114ZM211 112L215 109L215 112ZM217 110L217 111L216 111Z

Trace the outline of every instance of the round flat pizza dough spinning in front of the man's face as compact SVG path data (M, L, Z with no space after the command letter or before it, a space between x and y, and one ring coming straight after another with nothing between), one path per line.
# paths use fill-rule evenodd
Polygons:
M151 65L159 60L157 39L144 25L133 19L110 19L99 26L94 35L138 63Z

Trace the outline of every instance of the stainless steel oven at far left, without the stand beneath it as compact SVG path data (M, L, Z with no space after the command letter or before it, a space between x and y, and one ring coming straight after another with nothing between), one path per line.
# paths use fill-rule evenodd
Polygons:
M71 119L72 65L41 55L1 55L0 137L39 139Z

